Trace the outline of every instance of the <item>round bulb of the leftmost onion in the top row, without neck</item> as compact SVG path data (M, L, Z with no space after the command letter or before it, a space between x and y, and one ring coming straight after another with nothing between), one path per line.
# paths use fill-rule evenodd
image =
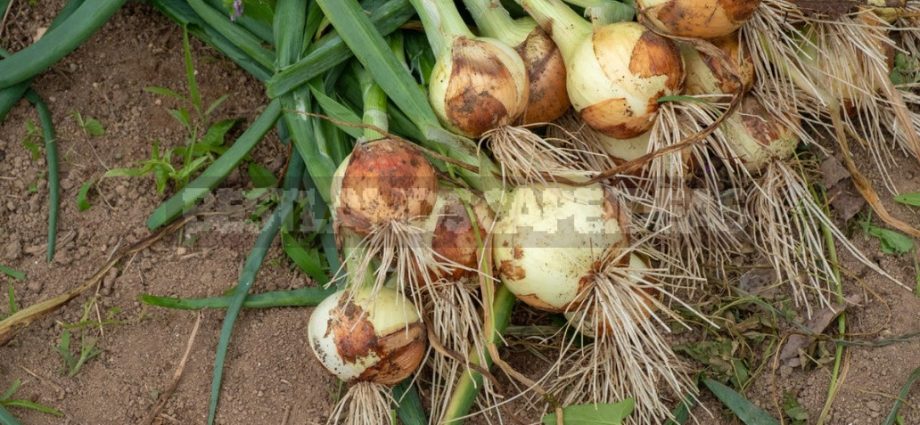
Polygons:
M467 137L517 122L527 108L527 70L511 47L458 36L431 72L429 98L438 118Z

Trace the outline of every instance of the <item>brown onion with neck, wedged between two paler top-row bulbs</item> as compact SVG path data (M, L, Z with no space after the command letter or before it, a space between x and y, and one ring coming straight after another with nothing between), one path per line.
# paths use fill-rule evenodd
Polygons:
M511 46L524 60L530 93L521 122L548 123L561 117L571 103L565 86L565 62L552 38L533 19L512 19L493 0L464 0L464 4L482 35Z

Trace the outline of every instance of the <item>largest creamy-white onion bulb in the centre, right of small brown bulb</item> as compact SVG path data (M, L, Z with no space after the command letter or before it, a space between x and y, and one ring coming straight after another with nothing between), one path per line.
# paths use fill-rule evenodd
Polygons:
M493 233L498 274L518 299L563 312L607 254L627 247L626 216L599 184L519 186L508 195Z

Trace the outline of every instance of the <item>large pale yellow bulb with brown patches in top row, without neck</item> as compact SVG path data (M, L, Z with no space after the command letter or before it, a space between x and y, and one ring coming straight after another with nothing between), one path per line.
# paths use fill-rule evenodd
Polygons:
M591 128L617 139L651 129L658 99L678 94L680 51L635 22L596 28L567 55L572 106Z

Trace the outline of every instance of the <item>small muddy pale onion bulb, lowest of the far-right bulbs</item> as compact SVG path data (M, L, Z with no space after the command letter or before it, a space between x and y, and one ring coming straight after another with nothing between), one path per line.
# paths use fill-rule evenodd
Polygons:
M794 120L797 124L798 118ZM753 95L744 97L741 107L723 122L720 131L725 142L731 144L735 160L752 173L763 171L774 161L791 158L799 145L795 131Z

